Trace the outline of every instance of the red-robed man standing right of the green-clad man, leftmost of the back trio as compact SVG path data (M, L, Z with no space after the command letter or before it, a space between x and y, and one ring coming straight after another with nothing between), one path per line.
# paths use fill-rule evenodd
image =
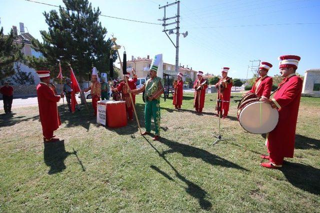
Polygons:
M193 83L194 89L194 99L193 99L193 107L195 107L195 111L202 112L202 108L204 107L204 99L205 99L205 89L208 87L206 84L206 79L202 77L203 72L198 71L197 77Z

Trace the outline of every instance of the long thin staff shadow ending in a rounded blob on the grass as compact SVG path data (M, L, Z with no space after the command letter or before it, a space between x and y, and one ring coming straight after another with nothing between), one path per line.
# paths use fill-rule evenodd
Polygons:
M188 193L193 198L197 199L199 202L199 205L201 209L209 210L212 207L212 204L205 199L205 196L207 195L207 192L204 191L201 187L198 185L192 183L191 181L187 180L184 176L182 176L172 165L171 163L165 158L163 154L161 154L144 136L143 138L146 140L146 142L149 143L149 145L158 153L158 155L171 167L171 169L174 171L175 176L184 182L187 187L185 188L185 192ZM150 166L151 169L155 170L165 178L167 178L170 181L174 181L168 174L161 171L159 168L157 168L154 165Z

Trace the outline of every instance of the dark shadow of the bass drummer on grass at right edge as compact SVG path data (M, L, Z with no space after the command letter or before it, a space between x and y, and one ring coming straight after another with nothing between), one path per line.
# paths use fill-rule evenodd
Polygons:
M319 169L308 165L285 162L285 166L280 170L293 186L314 195L320 195Z

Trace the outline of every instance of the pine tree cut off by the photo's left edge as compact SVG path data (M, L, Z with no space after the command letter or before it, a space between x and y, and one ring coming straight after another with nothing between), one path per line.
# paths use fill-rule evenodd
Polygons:
M13 63L21 60L23 54L20 51L23 44L13 42L15 35L11 29L8 35L3 34L3 27L0 29L0 80L14 74Z

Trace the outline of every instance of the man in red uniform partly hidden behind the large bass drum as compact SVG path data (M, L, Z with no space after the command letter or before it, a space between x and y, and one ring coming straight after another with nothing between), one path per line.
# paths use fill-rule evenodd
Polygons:
M259 97L270 97L272 89L272 78L267 76L269 69L272 67L272 64L268 62L261 62L259 66L259 77L255 80L254 85L251 90L248 92L255 93ZM247 92L247 93L248 93Z

